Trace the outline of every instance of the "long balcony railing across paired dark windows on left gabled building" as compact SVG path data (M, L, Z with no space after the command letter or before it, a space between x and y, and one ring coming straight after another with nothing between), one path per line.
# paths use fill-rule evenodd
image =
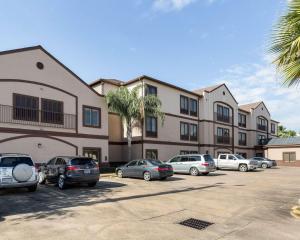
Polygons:
M0 105L0 123L75 129L76 115Z

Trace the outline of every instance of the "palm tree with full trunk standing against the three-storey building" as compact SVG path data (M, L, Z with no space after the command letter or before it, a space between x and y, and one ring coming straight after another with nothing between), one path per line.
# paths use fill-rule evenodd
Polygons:
M128 161L131 160L132 129L143 125L145 116L159 117L163 124L164 113L161 111L161 101L155 95L140 94L141 85L129 90L120 87L106 95L109 111L118 113L126 125L128 141Z

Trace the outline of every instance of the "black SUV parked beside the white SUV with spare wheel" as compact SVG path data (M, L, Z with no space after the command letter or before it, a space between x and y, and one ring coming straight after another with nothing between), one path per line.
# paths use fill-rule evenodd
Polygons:
M40 184L57 183L60 189L70 184L96 186L100 173L97 163L88 157L58 156L40 167Z

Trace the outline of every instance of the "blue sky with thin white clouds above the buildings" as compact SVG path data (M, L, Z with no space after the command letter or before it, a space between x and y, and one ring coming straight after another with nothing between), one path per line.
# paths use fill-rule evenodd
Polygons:
M0 0L0 51L34 45L84 81L149 75L188 90L226 83L300 131L300 89L268 55L287 0Z

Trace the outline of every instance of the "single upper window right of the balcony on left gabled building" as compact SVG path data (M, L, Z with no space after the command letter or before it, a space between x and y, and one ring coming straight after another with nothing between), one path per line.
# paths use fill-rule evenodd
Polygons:
M101 127L101 109L96 107L83 106L83 126Z

